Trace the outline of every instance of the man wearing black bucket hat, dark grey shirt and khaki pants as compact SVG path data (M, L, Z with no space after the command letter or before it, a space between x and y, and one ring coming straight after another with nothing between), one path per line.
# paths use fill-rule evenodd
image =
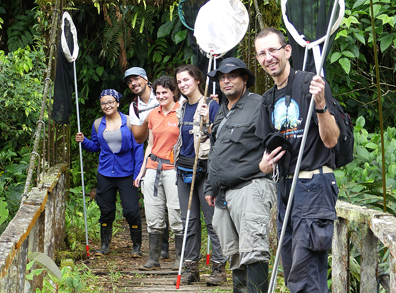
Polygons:
M255 77L237 58L208 73L227 98L212 125L206 200L214 205L213 228L233 272L235 292L268 288L269 215L275 186L262 173L262 140L254 135L261 96L250 93Z

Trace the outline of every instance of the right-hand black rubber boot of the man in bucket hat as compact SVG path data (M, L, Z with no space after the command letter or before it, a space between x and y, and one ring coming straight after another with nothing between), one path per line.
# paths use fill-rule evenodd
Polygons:
M257 261L246 266L248 293L268 292L268 263Z

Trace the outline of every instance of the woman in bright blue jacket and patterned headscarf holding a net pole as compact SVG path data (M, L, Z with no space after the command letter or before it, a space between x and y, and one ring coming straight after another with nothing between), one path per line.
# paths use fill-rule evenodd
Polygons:
M76 142L81 142L85 150L100 151L96 201L100 208L101 248L96 253L109 252L118 191L122 215L131 231L132 257L142 257L142 220L134 180L142 166L143 145L135 142L128 123L129 116L118 111L121 97L115 90L104 90L99 98L105 115L92 125L91 140L80 132L76 134Z

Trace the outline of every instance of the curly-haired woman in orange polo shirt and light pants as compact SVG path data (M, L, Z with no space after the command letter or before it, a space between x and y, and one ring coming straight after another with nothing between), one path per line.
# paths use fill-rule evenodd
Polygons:
M159 107L148 114L148 147L145 152L146 174L141 172L147 230L148 261L139 270L159 270L162 234L165 229L165 211L168 209L169 226L175 234L176 261L172 270L179 269L183 245L183 225L177 193L176 171L169 154L179 137L176 109L180 106L175 97L176 84L169 76L161 76L152 83ZM144 163L145 163L144 162ZM142 168L144 170L144 168Z

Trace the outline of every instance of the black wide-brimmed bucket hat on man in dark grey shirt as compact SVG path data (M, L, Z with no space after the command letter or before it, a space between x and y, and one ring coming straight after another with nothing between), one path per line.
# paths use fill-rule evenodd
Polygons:
M218 76L220 73L230 73L236 69L238 69L241 74L247 74L247 88L250 88L252 85L254 85L256 82L256 77L254 74L249 69L247 69L244 61L234 57L224 59L221 61L218 69L210 71L207 75L211 81L219 82Z

